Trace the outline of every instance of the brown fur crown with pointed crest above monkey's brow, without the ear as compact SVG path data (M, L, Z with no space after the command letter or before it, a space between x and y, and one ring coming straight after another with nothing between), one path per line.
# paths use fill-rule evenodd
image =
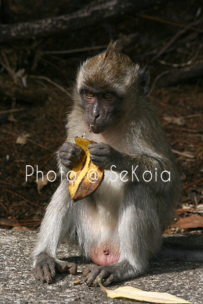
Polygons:
M114 90L123 95L126 83L133 80L132 73L136 73L137 68L128 56L119 52L116 43L111 42L106 51L82 64L77 77L77 89L87 86L92 89Z

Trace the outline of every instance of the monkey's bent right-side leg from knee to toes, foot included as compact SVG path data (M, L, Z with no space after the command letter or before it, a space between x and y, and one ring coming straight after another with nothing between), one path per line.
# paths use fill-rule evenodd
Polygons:
M118 224L120 260L86 269L88 286L98 286L98 278L107 286L146 272L150 258L158 253L162 242L159 205L164 206L163 199L148 185L138 182L125 186Z

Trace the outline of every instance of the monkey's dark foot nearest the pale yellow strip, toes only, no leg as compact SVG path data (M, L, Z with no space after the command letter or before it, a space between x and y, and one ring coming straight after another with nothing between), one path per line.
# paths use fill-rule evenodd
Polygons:
M87 286L93 287L98 287L98 279L104 280L102 283L104 286L120 280L115 265L88 267L83 272L83 277L86 277L85 282Z

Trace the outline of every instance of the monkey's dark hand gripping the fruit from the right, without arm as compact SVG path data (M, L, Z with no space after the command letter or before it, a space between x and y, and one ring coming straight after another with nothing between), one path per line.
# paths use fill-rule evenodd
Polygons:
M95 166L110 170L115 162L120 160L120 152L106 143L92 143L88 145L90 159Z

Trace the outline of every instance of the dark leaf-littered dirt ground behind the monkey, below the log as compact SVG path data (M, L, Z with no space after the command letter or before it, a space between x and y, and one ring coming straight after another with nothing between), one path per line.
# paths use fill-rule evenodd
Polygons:
M36 169L44 173L56 171L55 151L65 139L66 113L72 101L66 95L74 81L81 60L97 54L95 46L107 45L110 39L136 39L123 44L123 52L151 72L150 98L160 109L160 119L176 158L184 197L174 224L167 233L203 232L203 91L202 79L162 87L157 75L179 70L203 60L202 36L187 30L160 58L157 54L182 24L194 21L199 2L173 12L170 5L139 12L145 17L129 15L107 20L94 28L61 37L21 41L2 46L0 61L0 227L4 229L38 229L44 210L59 183L49 182L37 189ZM159 21L146 17L158 17ZM202 13L201 13L202 15ZM198 16L200 18L202 16ZM196 20L196 19L195 19ZM202 28L200 23L197 28ZM70 54L49 54L49 50L70 50L90 47L88 51ZM175 64L175 66L174 66ZM12 73L13 72L13 73ZM16 76L16 77L15 77ZM161 78L161 77L160 77ZM54 83L51 83L50 80ZM26 83L26 87L23 84ZM11 112L9 112L12 110ZM14 110L14 111L13 111ZM17 111L15 111L17 110ZM19 140L25 136L25 142ZM78 134L79 136L81 134ZM18 139L18 141L17 141ZM19 142L19 143L18 143ZM25 181L26 165L35 170ZM30 172L30 171L29 171ZM187 218L187 220L186 220ZM179 222L178 220L183 220Z

